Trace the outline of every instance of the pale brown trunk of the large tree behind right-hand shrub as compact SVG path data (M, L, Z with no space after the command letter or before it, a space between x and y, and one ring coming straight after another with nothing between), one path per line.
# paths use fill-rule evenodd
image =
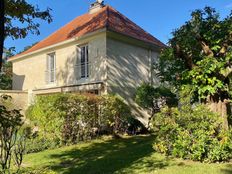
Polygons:
M219 100L218 102L209 102L209 109L215 113L218 113L223 120L223 129L228 130L229 129L229 123L228 123L228 117L227 117L227 100Z

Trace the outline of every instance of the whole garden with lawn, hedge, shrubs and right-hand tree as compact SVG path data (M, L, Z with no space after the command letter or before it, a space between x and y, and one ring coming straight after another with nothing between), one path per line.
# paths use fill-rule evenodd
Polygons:
M117 95L41 95L22 115L0 98L1 173L232 173L232 15L192 12L135 102Z

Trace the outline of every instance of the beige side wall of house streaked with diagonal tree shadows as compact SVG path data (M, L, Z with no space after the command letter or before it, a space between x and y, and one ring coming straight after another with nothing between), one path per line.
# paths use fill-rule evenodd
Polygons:
M148 112L140 108L134 99L136 89L142 83L158 83L151 71L158 51L136 42L134 40L134 44L131 44L130 41L107 38L107 92L124 98L132 108L133 115L147 124Z

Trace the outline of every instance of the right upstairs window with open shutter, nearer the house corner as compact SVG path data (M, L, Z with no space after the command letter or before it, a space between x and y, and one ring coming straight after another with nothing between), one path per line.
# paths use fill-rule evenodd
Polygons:
M81 78L89 77L89 50L88 45L80 47L81 51Z

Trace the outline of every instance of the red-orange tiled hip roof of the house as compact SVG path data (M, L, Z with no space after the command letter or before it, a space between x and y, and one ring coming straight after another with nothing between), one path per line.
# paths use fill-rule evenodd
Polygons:
M37 43L27 51L14 56L13 58L52 46L71 38L80 37L103 28L152 43L161 48L166 47L165 44L144 31L141 27L116 11L114 8L105 6L96 13L87 13L77 17L64 27L48 36L46 39Z

